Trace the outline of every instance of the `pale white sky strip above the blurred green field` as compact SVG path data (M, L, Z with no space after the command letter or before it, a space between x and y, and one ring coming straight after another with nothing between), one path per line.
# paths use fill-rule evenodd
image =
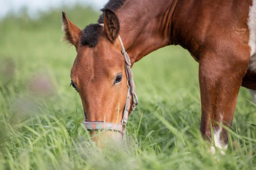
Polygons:
M96 10L101 9L108 0L0 0L0 18L9 12L18 14L26 7L30 15L36 15L39 11L58 8L63 5L72 6L77 3L87 6L90 5Z

